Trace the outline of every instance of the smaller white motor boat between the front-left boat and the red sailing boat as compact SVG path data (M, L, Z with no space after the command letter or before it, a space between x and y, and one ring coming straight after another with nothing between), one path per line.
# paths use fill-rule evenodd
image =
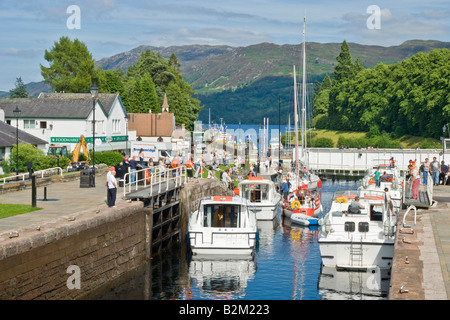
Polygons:
M248 208L256 220L273 220L281 206L281 195L272 180L249 177L239 183L239 195L248 200Z

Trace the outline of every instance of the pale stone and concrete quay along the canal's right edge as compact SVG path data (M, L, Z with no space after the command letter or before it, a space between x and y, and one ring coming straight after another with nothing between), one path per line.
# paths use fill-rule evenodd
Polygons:
M429 209L397 221L389 300L450 299L450 186L435 186Z

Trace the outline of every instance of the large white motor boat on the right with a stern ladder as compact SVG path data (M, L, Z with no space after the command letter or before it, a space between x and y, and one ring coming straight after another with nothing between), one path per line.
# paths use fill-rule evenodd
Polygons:
M351 207L356 196L364 206L360 212ZM396 217L388 207L381 191L335 192L330 211L319 221L323 265L342 270L390 268Z

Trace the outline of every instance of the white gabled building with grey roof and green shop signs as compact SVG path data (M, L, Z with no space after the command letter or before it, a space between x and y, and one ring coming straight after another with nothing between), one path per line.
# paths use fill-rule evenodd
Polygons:
M81 135L92 148L93 106L89 93L41 93L38 98L0 99L7 124L17 125L13 110L18 107L19 129L47 141L46 150L56 144L67 146L69 152ZM125 150L130 137L135 140L135 132L128 132L127 113L119 94L99 94L95 103L95 151Z

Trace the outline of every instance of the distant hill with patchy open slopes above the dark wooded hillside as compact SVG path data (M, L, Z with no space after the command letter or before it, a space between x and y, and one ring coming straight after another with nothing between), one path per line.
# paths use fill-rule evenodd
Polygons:
M307 42L307 72L312 78L333 71L340 43ZM393 64L422 51L450 48L450 42L410 40L399 46L382 47L349 43L353 57L359 57L364 67L379 62ZM169 58L172 53L181 63L181 73L199 94L236 89L266 76L291 76L292 66L299 65L301 44L276 45L260 43L247 47L229 46L140 46L96 62L103 69L123 69L136 63L141 52L152 50Z

